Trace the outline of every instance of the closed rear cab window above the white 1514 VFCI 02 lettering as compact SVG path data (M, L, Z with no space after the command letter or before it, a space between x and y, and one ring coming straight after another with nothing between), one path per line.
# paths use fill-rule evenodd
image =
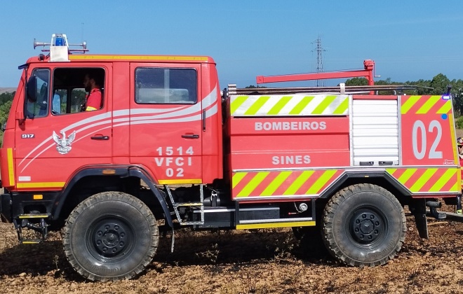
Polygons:
M195 69L139 67L135 69L137 104L195 104Z

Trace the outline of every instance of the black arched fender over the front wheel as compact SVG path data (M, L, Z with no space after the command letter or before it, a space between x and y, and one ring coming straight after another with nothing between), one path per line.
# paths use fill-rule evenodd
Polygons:
M159 204L161 205L164 214L166 215L166 221L170 228L173 228L173 221L172 218L170 217L170 211L168 209L168 205L164 197L161 195L161 192L159 192L159 189L154 186L154 181L151 179L150 176L147 175L147 173L140 169L140 167L127 167L127 166L119 166L119 167L109 167L109 166L98 166L98 167L90 167L86 169L81 169L79 172L74 174L72 176L72 179L67 182L65 186L65 190L56 197L55 204L53 205L52 209L52 218L57 219L58 216L61 213L61 209L67 199L67 196L71 192L72 188L76 185L76 183L80 180L83 179L84 177L87 176L103 176L105 175L104 170L107 169L112 169L114 170L114 173L112 173L110 176L119 176L119 178L125 178L128 176L134 176L138 179L142 179L147 183L149 188L152 190L153 194L156 196L157 200L159 201Z

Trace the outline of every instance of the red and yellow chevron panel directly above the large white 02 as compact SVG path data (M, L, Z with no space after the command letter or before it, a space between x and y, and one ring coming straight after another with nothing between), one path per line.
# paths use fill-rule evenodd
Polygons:
M452 101L450 99L442 99L440 95L434 96L403 96L401 113L415 114L450 114L452 113Z

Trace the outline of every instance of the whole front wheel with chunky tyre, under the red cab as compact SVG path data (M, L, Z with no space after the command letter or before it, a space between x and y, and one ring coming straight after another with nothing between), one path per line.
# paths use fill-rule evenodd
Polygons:
M152 211L132 195L104 192L67 218L63 244L76 272L92 281L130 279L154 258L159 229Z

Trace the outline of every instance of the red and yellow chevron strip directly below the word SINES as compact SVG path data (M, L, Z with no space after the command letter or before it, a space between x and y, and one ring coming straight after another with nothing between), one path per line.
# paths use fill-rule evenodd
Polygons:
M233 198L319 195L344 172L319 169L236 172L231 179Z

